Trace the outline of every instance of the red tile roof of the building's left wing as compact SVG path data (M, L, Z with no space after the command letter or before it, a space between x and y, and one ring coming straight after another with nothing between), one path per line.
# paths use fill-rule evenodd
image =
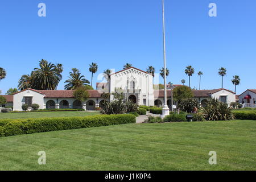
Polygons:
M35 89L26 89L32 90L34 92L45 95L44 98L74 98L73 92L75 90L35 90ZM26 91L22 90L20 92ZM17 92L17 93L20 93ZM15 94L17 94L15 93ZM90 98L101 98L102 92L100 90L88 90Z

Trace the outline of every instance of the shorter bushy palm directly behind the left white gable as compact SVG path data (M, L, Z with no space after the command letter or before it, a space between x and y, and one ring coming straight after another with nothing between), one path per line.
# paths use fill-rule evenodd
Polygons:
M22 75L22 77L19 80L18 89L24 90L24 89L38 89L35 85L35 75L34 72L31 72L30 75Z

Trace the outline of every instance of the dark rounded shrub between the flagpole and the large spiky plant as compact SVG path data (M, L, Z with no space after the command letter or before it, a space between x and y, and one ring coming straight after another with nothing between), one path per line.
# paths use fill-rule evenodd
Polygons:
M177 105L177 109L187 113L192 113L195 108L199 108L199 102L195 98L186 98L180 100Z

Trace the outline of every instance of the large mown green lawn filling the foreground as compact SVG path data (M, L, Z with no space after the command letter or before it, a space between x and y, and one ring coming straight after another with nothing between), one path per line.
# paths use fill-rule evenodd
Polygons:
M256 121L142 123L0 138L0 170L256 170ZM46 165L38 164L46 151ZM217 165L209 165L209 151Z

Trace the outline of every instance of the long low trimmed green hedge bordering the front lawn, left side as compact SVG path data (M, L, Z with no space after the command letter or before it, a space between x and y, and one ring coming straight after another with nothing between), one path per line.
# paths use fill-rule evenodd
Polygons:
M57 130L136 123L136 118L132 114L118 114L69 118L1 119L0 123L0 137L7 137Z

